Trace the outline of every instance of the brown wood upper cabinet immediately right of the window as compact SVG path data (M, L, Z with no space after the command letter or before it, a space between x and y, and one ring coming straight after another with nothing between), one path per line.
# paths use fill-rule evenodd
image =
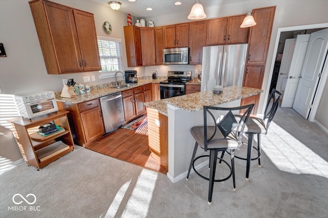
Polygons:
M128 66L142 66L140 28L136 26L125 26L123 28Z

